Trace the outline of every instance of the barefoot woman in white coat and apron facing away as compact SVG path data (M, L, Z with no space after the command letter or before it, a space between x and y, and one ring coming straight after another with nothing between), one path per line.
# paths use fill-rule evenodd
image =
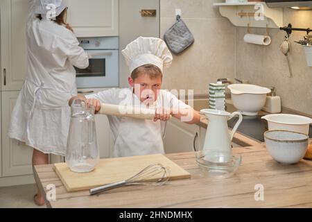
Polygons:
M71 112L68 100L77 94L73 66L85 69L89 56L65 22L67 8L62 0L30 0L29 8L28 70L8 135L34 148L35 166L48 164L48 154L66 153ZM34 200L44 205L39 189Z

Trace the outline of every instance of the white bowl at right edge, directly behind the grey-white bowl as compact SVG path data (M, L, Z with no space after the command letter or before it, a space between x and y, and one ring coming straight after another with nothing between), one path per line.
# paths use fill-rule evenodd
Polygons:
M268 121L269 130L289 130L297 133L309 134L312 119L293 114L269 114L261 119Z

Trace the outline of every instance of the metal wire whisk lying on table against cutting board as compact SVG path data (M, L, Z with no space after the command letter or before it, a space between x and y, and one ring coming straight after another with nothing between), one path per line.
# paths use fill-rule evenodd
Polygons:
M169 169L164 167L162 164L154 163L150 164L145 169L141 170L139 173L132 176L128 180L123 180L120 182L114 182L109 185L96 187L90 189L90 195L98 194L109 189L114 189L117 187L123 187L126 185L150 185L150 186L162 186L169 180ZM155 176L160 176L157 181L153 181Z

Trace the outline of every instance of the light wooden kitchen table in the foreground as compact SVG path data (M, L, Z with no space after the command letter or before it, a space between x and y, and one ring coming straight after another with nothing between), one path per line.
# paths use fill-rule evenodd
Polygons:
M56 186L56 200L48 207L312 207L312 162L282 165L264 145L234 148L243 157L232 178L215 180L202 176L194 153L166 155L191 173L191 179L170 181L163 187L129 186L89 196L89 191L68 193L53 165L35 167L42 192ZM258 198L263 187L264 200ZM256 189L257 190L256 190Z

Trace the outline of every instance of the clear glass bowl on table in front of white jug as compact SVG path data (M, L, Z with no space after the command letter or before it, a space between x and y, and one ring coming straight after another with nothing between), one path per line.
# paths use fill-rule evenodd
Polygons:
M237 171L241 164L241 155L204 150L196 152L196 162L205 176L224 179L233 176Z

